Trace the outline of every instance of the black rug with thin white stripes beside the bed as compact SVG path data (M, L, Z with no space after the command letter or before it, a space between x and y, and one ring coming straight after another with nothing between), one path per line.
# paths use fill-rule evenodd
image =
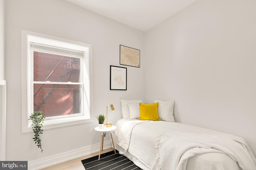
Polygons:
M118 150L116 154L113 151L104 153L99 156L94 156L82 160L82 164L86 170L141 170L132 161L123 155L120 155Z

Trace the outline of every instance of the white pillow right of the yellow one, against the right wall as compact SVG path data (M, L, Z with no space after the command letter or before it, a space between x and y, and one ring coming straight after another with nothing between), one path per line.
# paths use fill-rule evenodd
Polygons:
M173 116L174 100L170 101L159 101L155 100L154 103L158 102L158 115L161 121L175 122Z

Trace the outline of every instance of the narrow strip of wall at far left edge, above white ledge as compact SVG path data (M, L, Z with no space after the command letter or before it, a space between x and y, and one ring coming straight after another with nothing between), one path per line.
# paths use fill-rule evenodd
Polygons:
M0 0L0 79L4 80L4 0Z

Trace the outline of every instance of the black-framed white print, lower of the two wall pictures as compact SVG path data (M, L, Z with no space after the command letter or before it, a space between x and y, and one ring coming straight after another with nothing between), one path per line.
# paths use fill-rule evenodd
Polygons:
M127 90L127 68L110 65L110 90Z

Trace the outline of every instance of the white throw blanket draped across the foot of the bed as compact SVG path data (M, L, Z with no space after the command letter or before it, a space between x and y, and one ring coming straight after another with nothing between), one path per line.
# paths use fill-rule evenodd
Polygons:
M157 164L153 169L186 169L188 158L210 152L224 153L243 170L256 170L256 158L243 138L222 134L164 133L157 138Z

